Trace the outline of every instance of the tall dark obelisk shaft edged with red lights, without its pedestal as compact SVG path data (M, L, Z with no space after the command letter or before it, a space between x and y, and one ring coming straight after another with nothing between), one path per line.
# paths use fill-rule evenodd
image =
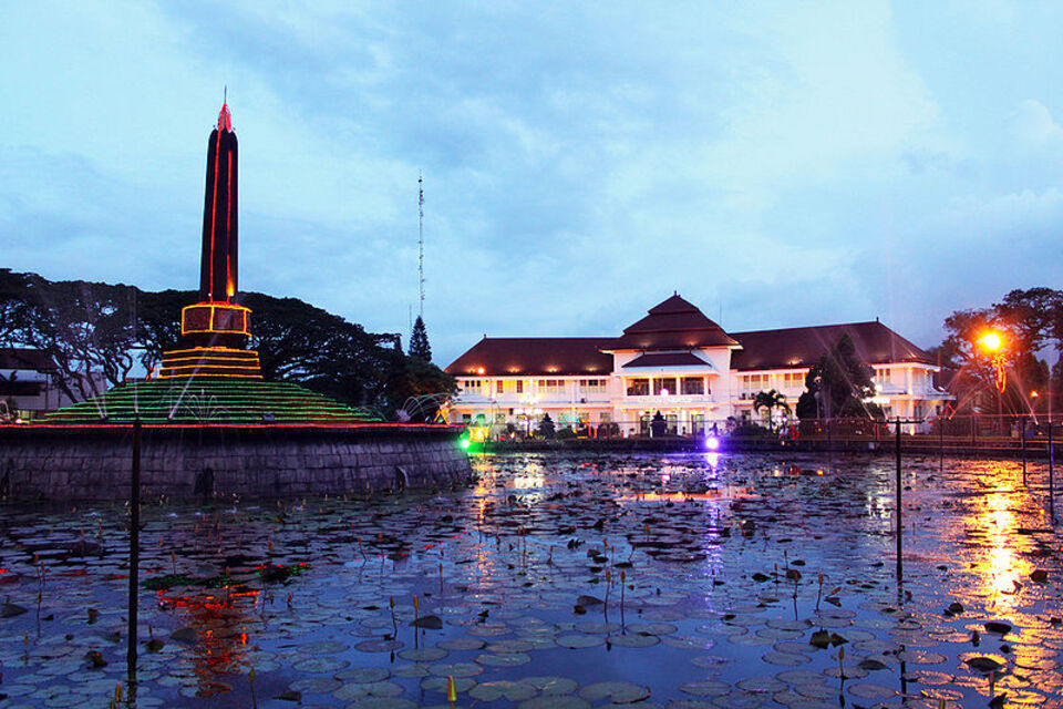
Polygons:
M237 301L237 145L229 105L207 144L207 192L203 205L199 301Z

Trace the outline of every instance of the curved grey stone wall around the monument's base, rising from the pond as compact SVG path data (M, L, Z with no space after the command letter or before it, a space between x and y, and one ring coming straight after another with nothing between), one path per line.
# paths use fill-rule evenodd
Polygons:
M142 499L298 497L447 486L471 476L450 427L144 427ZM9 500L130 496L131 425L4 427Z

